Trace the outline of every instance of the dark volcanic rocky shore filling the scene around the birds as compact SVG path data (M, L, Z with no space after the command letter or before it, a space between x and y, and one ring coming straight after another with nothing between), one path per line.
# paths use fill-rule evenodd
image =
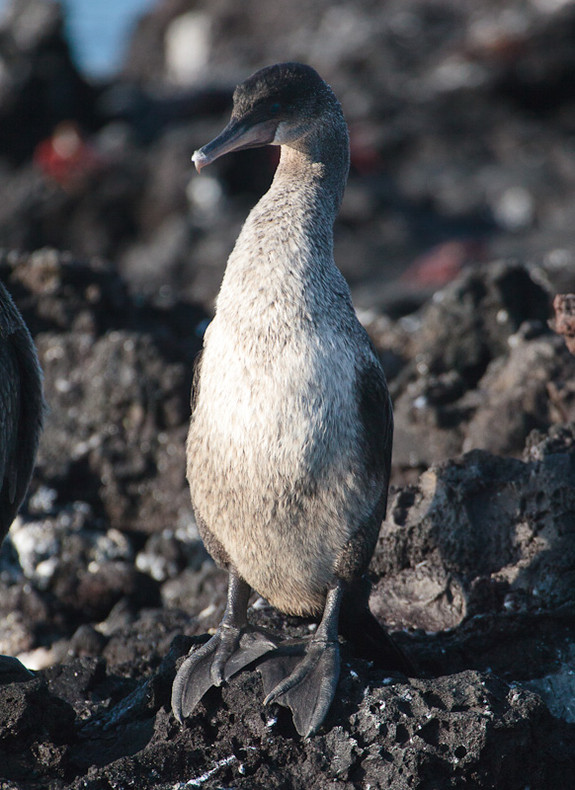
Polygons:
M575 4L147 0L113 65L97 5L98 69L81 3L0 6L0 277L49 408L0 553L0 652L34 671L0 677L0 784L575 786L575 357L552 307L575 292ZM169 712L225 605L185 481L193 359L277 152L201 177L190 157L280 60L350 126L336 261L396 419L371 603L421 670L349 646L310 741L255 671L185 728Z

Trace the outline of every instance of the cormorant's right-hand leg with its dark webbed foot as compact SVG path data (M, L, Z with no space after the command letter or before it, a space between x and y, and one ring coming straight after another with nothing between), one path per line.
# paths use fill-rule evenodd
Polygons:
M277 702L290 708L295 728L305 738L319 729L337 688L342 595L343 582L338 581L328 591L315 634L310 639L283 642L258 667L267 694L265 704Z

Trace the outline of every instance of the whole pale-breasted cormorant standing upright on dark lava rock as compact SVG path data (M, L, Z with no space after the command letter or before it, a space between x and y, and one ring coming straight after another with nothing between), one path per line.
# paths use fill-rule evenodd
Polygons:
M342 596L364 574L385 515L393 420L333 260L347 126L310 67L279 64L240 85L230 123L194 160L200 169L268 143L281 145L280 162L228 260L187 444L202 537L230 572L228 608L182 665L173 707L182 719L210 685L273 651L261 664L267 701L288 705L309 735L337 684ZM275 650L247 626L250 588L282 612L323 613L316 635Z

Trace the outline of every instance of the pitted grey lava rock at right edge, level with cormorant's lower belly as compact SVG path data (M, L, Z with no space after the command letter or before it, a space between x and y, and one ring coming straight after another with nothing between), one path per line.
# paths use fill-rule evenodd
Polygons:
M564 431L537 460L474 450L399 490L372 561L378 613L439 631L486 611L575 612L575 423Z

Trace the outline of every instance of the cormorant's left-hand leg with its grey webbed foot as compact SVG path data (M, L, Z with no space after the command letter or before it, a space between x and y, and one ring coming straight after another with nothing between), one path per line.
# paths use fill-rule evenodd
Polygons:
M277 647L267 635L247 625L250 593L250 586L230 571L226 610L216 633L205 645L192 648L174 679L172 711L180 724L208 689L221 686L224 680Z

